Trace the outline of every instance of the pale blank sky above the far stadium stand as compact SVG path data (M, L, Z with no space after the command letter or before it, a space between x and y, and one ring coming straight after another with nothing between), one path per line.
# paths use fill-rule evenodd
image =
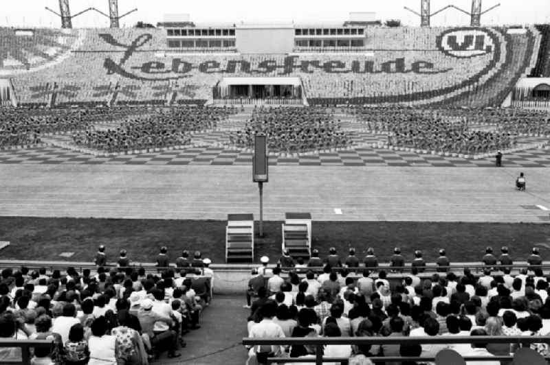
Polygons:
M550 23L550 0L483 0L482 10L500 2L500 7L481 17L482 25ZM431 0L431 11L456 5L470 12L471 0ZM61 27L58 0L0 0L0 26ZM164 14L189 14L196 23L335 23L349 19L350 12L376 12L376 19L400 19L404 25L419 25L420 0L118 0L119 14L137 8L120 21L131 27L137 21L156 25ZM71 14L86 8L109 13L109 0L69 0ZM437 25L469 25L470 16L452 8L436 14ZM73 27L109 27L109 19L97 12L87 12L73 19Z

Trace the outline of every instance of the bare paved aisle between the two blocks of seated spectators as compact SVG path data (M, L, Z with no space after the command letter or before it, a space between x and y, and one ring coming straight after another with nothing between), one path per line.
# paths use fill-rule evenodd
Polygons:
M212 305L203 312L201 328L185 336L187 346L179 351L181 357L162 357L152 365L243 365L247 353L241 341L247 335L249 311L243 308L244 302L244 296L214 296Z

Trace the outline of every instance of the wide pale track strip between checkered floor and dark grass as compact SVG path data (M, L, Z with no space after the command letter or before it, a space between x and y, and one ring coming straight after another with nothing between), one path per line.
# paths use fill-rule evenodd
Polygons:
M0 215L225 220L254 213L250 166L1 165ZM550 169L273 166L264 219L548 222ZM338 210L340 209L340 211ZM341 212L341 214L340 214Z

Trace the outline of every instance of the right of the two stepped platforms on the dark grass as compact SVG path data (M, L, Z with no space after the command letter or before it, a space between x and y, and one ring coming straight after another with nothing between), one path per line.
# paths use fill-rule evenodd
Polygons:
M285 213L282 225L283 247L292 257L309 259L311 256L311 214Z

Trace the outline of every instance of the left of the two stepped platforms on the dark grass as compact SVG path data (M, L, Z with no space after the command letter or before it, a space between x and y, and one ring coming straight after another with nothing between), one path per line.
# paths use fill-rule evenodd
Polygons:
M228 214L225 262L254 261L254 215Z

